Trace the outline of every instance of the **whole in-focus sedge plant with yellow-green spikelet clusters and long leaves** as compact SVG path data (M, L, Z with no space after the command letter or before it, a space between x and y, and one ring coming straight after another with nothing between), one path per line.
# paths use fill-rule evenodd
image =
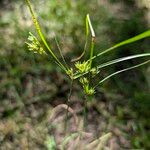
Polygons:
M37 35L38 35L38 37L36 37L32 33L29 33L28 42L26 42L28 45L28 49L30 51L33 51L34 53L39 53L39 54L47 55L48 57L50 57L51 60L56 65L58 65L62 69L62 71L67 75L67 77L70 79L71 87L70 87L70 93L68 96L68 103L70 101L70 97L71 97L71 93L72 93L72 86L73 86L74 81L77 80L80 82L80 84L83 88L84 94L86 96L86 100L85 100L85 103L86 103L87 97L90 97L96 93L96 87L100 86L103 82L105 82L109 78L111 78L119 73L143 66L150 62L150 52L148 52L148 53L130 55L130 56L123 57L123 58L117 58L117 59L110 60L110 61L107 61L102 64L94 66L93 60L103 57L104 54L109 54L111 51L114 51L115 49L117 49L121 46L130 44L133 42L137 42L141 39L150 37L150 30L147 30L139 35L136 35L132 38L124 40L118 44L115 44L114 46L112 46L106 50L103 50L102 52L95 55L94 54L95 32L94 32L94 29L93 29L93 26L92 26L92 23L90 20L90 16L89 16L89 14L87 14L86 19L85 19L86 33L85 33L85 46L83 48L83 52L81 53L81 55L78 58L75 58L72 60L74 67L69 67L69 65L65 61L65 58L62 55L62 52L59 47L59 43L58 43L57 39L56 39L56 44L58 46L62 60L60 60L56 56L55 51L52 50L52 48L51 48L51 45L47 43L46 38L40 27L40 24L36 18L35 12L33 11L30 0L25 0L25 1L27 3L27 6L31 13L33 23L34 23L34 26L36 28ZM90 44L89 44L89 40L88 40L89 38L90 38ZM87 49L88 44L89 44L89 50ZM82 60L82 58L85 54L89 54L89 58ZM94 80L95 77L99 75L99 72L101 71L101 69L106 68L108 66L112 66L112 65L120 63L120 62L123 62L123 61L142 58L142 57L147 58L147 60L140 64L116 71L116 72L104 77L103 79L99 80L96 83L96 85L92 84L92 80Z

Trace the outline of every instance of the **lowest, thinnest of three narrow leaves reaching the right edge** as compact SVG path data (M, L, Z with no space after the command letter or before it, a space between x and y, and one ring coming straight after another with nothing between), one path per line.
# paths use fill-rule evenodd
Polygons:
M150 62L150 60L145 61L145 62L143 62L143 63L140 63L140 64L138 64L138 65L135 65L135 66L132 66L132 67L129 67L129 68L122 69L122 70L119 70L119 71L117 71L117 72L114 72L114 73L108 75L107 77L105 77L104 79L102 79L95 87L97 87L99 84L103 83L103 82L106 81L107 79L109 79L109 78L111 78L111 77L113 77L113 76L115 76L115 75L117 75L117 74L119 74L119 73L122 73L122 72L125 72L125 71L128 71L128 70L131 70L131 69L134 69L134 68L143 66L143 65L145 65L145 64L147 64L147 63L149 63L149 62ZM95 88L95 87L94 87L94 88Z

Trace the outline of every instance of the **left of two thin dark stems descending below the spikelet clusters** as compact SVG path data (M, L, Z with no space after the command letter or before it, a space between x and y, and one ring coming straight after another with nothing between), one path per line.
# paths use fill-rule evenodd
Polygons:
M67 99L67 110L66 110L66 119L65 119L65 131L67 131L67 121L68 121L68 109L69 109L69 103L71 100L71 95L72 95L72 89L73 89L73 80L71 80L71 84L70 84L70 91L68 94L68 99Z

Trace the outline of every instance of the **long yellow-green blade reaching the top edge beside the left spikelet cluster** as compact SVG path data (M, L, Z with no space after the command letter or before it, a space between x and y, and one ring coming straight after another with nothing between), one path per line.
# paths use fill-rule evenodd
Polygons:
M64 65L59 61L59 59L56 57L56 55L53 53L53 51L51 50L51 48L47 44L47 42L45 40L45 37L44 37L44 35L43 35L42 31L41 31L40 25L39 25L39 23L37 21L37 18L36 18L35 14L34 14L33 8L32 8L31 3L30 3L30 0L25 0L25 1L26 1L27 6L28 6L28 8L30 10L30 13L31 13L31 16L32 16L32 19L33 19L33 23L35 25L35 28L37 30L37 33L38 33L39 37L41 38L42 42L44 43L45 47L48 49L48 51L50 52L50 54L52 55L52 57L54 58L54 60L58 64L60 64L61 68L64 71L66 71L66 68L64 67Z

